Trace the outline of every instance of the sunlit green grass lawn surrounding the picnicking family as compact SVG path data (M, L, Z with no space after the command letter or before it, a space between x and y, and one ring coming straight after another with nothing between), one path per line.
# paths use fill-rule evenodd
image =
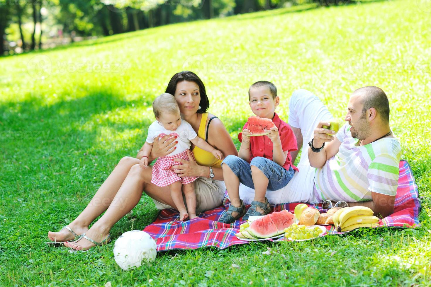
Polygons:
M431 285L431 18L425 4L259 12L0 59L0 285ZM48 65L50 73L38 75L33 63ZM107 64L110 72L73 71L83 64ZM294 89L312 90L340 118L354 89L380 86L419 185L422 226L172 251L130 272L116 265L112 244L79 254L48 248L47 231L73 220L118 160L136 154L153 121L152 99L183 69L202 77L209 111L237 145L251 113L247 89L256 80L276 84L286 121ZM113 238L144 228L157 214L147 196L133 212L137 220L120 220ZM267 247L270 256L262 254Z

